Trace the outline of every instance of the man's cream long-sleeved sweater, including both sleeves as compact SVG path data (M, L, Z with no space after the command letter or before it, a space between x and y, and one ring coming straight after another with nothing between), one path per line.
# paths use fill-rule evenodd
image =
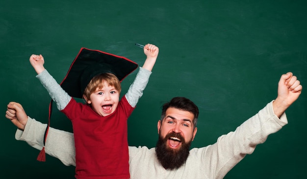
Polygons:
M269 134L287 124L285 113L278 118L272 102L241 124L234 132L224 134L217 142L190 150L186 163L177 170L165 170L155 156L154 148L129 147L131 179L223 179L257 144L265 142ZM17 130L15 138L41 150L47 124L28 117L24 131ZM45 145L47 154L59 158L65 165L76 165L74 135L50 128Z

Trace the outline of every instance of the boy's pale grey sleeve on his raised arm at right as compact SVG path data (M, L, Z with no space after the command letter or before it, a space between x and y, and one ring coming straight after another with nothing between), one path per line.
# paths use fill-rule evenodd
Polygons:
M139 71L130 85L128 92L126 93L126 99L128 103L134 108L139 101L140 97L143 95L143 90L148 84L149 77L152 71L139 67Z

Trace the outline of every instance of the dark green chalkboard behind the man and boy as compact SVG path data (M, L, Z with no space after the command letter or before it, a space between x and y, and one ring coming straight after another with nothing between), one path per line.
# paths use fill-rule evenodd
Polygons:
M193 147L218 136L277 96L281 74L292 71L307 84L306 0L0 0L0 158L1 179L74 178L75 168L14 138L4 117L10 101L48 121L50 96L35 78L31 54L43 54L45 67L61 82L81 47L145 60L135 43L152 43L160 53L150 82L128 121L130 145L154 147L160 107L184 96L200 108ZM136 70L137 71L137 70ZM128 90L136 71L122 83ZM289 124L268 137L226 179L306 177L307 98L287 110ZM54 107L51 126L72 131Z

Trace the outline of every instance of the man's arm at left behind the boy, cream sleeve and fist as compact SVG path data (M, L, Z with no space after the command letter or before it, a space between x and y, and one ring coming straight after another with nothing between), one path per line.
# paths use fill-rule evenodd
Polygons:
M26 141L35 149L42 150L47 124L42 124L26 115L22 105L10 102L5 117L18 127L15 138ZM65 165L76 166L74 134L49 128L45 152L60 159Z

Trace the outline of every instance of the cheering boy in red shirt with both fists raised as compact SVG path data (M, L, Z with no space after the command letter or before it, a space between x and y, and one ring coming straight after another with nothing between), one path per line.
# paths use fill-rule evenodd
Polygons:
M94 76L85 89L87 104L77 103L44 68L42 55L31 55L37 78L57 108L72 121L76 147L77 179L129 179L127 119L142 96L158 56L157 46L147 44L147 56L128 92L119 100L120 80L112 72ZM81 80L82 81L82 80Z

